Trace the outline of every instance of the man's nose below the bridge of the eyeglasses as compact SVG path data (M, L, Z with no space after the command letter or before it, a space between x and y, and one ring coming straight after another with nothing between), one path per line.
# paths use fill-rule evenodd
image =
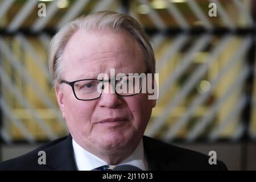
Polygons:
M101 94L99 105L101 107L115 108L122 104L121 96L115 93L114 85L110 82L104 83L104 90Z

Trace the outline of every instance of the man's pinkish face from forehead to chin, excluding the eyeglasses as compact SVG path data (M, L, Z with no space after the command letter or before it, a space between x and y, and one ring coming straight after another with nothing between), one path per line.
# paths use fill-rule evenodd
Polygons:
M61 78L67 81L97 78L99 73L110 77L110 69L115 74L146 71L141 47L123 30L77 31L64 49L63 66ZM80 101L67 84L57 86L56 95L73 139L91 152L136 147L155 106L146 93L122 97L103 92L96 100Z

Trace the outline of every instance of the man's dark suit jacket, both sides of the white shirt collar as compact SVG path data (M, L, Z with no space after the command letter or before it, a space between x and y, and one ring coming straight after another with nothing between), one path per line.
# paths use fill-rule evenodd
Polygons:
M143 137L144 152L150 170L226 170L217 164L208 163L209 156L176 147L150 137ZM38 164L39 151L46 152L46 164ZM72 137L63 137L36 148L28 154L0 163L1 170L76 170Z

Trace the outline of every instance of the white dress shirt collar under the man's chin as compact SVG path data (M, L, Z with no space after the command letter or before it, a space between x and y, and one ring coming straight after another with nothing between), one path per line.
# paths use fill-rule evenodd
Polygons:
M97 167L109 165L104 160L98 158L97 156L93 155L92 153L86 151L82 148L79 144L76 143L74 139L72 139L73 144L73 151L74 151L74 158L76 162L76 167L79 171L90 171ZM143 148L143 140L139 142L138 146L135 148L133 153L123 160L122 163L118 164L129 164L135 167L142 169L143 171L148 170L148 165L146 162L146 158L144 156L144 148ZM113 167L112 165L109 165Z

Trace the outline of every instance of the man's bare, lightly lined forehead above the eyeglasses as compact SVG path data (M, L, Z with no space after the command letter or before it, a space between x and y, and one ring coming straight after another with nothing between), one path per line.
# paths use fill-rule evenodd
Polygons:
M63 53L64 74L72 78L95 76L110 69L143 72L143 53L139 44L124 30L113 32L78 30Z

